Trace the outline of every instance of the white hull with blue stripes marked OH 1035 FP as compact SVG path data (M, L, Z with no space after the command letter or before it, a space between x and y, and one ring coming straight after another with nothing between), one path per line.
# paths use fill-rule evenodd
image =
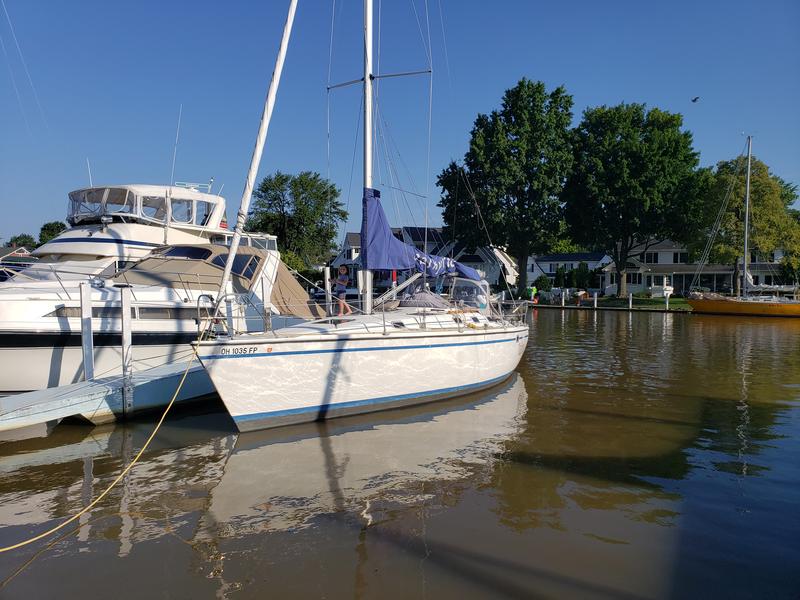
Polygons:
M430 402L484 389L516 368L525 326L249 337L198 354L240 431Z

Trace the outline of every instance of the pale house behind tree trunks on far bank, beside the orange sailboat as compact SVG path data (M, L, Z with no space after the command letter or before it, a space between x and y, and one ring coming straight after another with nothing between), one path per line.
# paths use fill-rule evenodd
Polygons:
M628 291L634 294L650 292L655 295L663 293L665 288L673 288L675 294L684 295L689 292L692 282L696 287L712 292L729 294L733 291L733 265L706 264L700 268L699 263L689 262L688 249L671 240L664 240L649 247L641 246L641 252L628 259L626 279ZM781 251L769 256L752 253L748 269L752 276L752 285L778 285L780 278ZM742 265L739 265L742 272ZM616 267L610 262L603 267L605 275L603 290L606 294L617 293Z

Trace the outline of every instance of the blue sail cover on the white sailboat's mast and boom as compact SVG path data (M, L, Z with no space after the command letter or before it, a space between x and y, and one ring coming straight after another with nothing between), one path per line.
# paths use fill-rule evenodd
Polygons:
M361 212L361 267L373 271L424 272L428 277L439 275L460 275L467 279L480 281L475 270L452 258L425 254L414 246L398 240L386 220L381 207L381 193L364 188Z

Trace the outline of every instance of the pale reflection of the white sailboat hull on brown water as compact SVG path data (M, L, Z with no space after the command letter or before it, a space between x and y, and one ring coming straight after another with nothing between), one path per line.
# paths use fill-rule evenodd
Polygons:
M498 388L423 411L242 434L211 492L208 524L241 535L345 511L373 523L381 506L424 502L420 482L472 476L473 465L491 470L502 442L523 427L526 404L513 374Z

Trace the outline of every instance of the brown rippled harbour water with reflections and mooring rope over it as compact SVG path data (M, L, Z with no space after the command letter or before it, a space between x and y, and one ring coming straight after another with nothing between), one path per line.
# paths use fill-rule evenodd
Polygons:
M797 598L800 321L531 328L482 394L246 435L176 413L79 528L0 555L0 596ZM0 445L0 545L78 511L151 427Z

